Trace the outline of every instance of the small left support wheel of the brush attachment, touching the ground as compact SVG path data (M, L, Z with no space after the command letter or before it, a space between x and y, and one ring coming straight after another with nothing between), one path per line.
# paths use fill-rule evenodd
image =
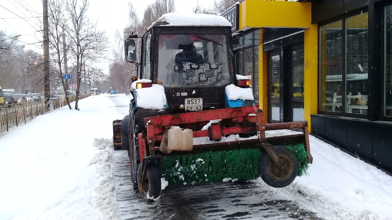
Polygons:
M147 162L146 172L143 177L143 183L140 181L140 174L142 173L142 164L138 168L138 187L140 195L146 202L154 202L161 195L161 177L158 166L154 162Z

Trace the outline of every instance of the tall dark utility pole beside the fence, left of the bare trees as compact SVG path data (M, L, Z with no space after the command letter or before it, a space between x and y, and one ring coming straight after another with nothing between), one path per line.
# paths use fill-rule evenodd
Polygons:
M50 84L49 84L49 28L48 28L48 0L42 0L44 9L43 21L44 21L44 97L45 106L49 108L49 97L50 97Z

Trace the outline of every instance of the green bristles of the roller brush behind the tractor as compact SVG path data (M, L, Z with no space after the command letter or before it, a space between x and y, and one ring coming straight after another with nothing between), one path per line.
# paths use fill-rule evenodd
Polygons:
M285 147L293 151L297 157L298 176L306 175L308 161L303 144ZM222 182L225 178L232 180L257 179L259 177L260 155L260 150L257 148L201 153L172 152L163 156L161 176L169 181L169 184Z

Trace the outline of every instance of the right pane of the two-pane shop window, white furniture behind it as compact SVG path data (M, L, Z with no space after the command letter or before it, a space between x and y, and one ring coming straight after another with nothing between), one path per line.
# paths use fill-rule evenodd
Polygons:
M368 78L368 13L346 20L345 112L367 114Z

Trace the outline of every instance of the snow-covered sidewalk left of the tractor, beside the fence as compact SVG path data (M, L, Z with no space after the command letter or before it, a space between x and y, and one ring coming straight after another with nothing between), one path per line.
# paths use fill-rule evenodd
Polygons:
M107 146L130 98L91 96L2 135L0 219L117 219Z

